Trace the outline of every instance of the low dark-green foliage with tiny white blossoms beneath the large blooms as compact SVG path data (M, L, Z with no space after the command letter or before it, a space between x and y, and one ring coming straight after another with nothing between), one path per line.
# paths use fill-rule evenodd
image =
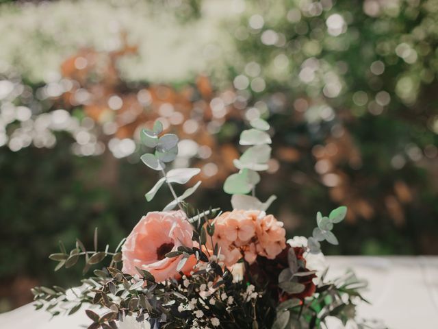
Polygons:
M263 262L274 262L276 267L283 266L281 258L267 260L261 257L263 260L259 256L252 265L242 260L248 272L243 280L236 282L233 274L220 262L220 247L209 247L218 209L210 208L200 212L185 202L181 202L181 208L192 223L192 240L196 244L194 247L180 245L165 256L179 258L177 271L183 268L190 257L195 257L197 265L190 277L183 276L179 281L169 278L164 282L156 282L153 275L144 269L137 268L136 276L123 273L118 269L121 260L118 250L124 240L114 252L108 252L108 245L105 251L100 252L97 249L99 241L96 229L93 251L88 252L78 239L70 253L60 243L60 252L51 254L49 258L58 262L57 268L70 268L77 263L79 257L84 257L83 274L92 265L105 260L107 263L94 269L93 275L83 279L80 287L35 287L32 293L36 300L36 309L44 308L53 316L71 315L81 306L90 305L108 310L107 313L98 315L93 310L86 309L86 315L91 320L88 328L117 328L116 321L126 316L136 317L139 322L147 319L153 328L159 324L170 329L209 324L212 319L217 321L215 327L227 329L313 329L324 324L328 316L338 317L344 324L347 320L354 319L356 303L363 300L359 291L365 287L365 283L357 280L352 272L333 282L326 282L324 273L318 286L315 286L311 282L315 278L315 271L306 269L305 258L302 258L306 249L288 247L287 265L278 280L274 278L270 282L268 278L267 281L260 281L259 276L254 276L254 273L263 273L266 270ZM345 215L343 209L337 209L333 213ZM318 218L324 217L318 213ZM338 220L338 217L333 218ZM112 259L109 264L108 256ZM274 290L267 290L272 284ZM308 289L309 284L313 291L300 295ZM279 296L286 296L287 299L279 302Z

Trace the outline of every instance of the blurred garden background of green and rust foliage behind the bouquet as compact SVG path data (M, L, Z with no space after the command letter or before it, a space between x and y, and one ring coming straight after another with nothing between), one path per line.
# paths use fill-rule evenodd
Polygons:
M75 284L61 239L116 245L166 205L142 127L181 137L198 208L231 207L248 120L272 125L257 193L289 235L348 206L326 254L438 254L437 0L0 1L0 312Z

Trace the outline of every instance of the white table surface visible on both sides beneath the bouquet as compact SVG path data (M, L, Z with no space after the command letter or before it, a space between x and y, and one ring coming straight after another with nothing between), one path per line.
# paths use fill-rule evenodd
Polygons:
M327 263L333 276L353 269L368 280L369 289L363 295L372 305L361 304L360 317L381 320L391 329L438 328L437 256L330 256ZM83 312L50 319L31 304L0 314L2 329L77 329L86 324ZM337 321L329 325L329 329L340 328L344 327Z

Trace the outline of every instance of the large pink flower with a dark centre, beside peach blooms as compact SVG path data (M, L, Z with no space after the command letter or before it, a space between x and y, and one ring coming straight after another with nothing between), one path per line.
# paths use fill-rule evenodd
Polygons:
M180 245L193 247L192 226L181 210L148 212L133 228L122 247L123 272L138 274L136 267L149 271L157 282L180 278L177 266L182 256L166 258ZM196 258L191 256L181 271L190 273Z

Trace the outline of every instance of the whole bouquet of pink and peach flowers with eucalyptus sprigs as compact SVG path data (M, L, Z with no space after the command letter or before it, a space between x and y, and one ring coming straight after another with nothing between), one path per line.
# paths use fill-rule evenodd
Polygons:
M270 160L270 126L263 119L250 125L240 135L247 148L234 160L239 171L224 182L231 211L196 210L185 202L201 182L177 195L175 184L187 184L200 169L167 170L178 154L178 137L164 134L160 121L142 130L141 143L150 152L141 160L162 174L146 200L167 185L172 201L142 217L114 251L97 249L97 230L91 251L80 240L70 252L60 243L60 252L50 255L55 270L84 258L83 273L94 268L93 274L73 289L35 287L36 308L71 315L88 305L88 329L115 329L129 321L154 329L326 328L329 317L356 323L365 283L352 272L327 280L320 250L322 241L338 243L332 231L346 207L328 216L318 212L308 239L287 240L283 223L267 212L276 197L255 197L259 171Z

